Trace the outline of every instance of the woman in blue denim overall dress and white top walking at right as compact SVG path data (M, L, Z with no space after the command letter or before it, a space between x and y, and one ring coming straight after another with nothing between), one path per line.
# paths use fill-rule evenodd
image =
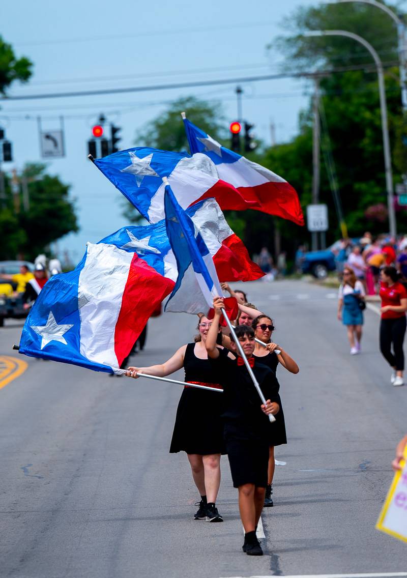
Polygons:
M338 319L347 328L347 338L350 343L350 354L360 353L362 339L363 313L361 303L364 303L365 289L361 281L356 279L354 271L349 266L343 268L343 281L339 287Z

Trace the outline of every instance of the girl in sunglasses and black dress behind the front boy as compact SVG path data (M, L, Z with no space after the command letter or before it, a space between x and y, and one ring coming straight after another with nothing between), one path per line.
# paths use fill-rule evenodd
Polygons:
M262 314L256 317L251 324L251 327L254 329L254 336L256 339L260 339L263 343L267 343L267 347L263 347L260 343L256 343L256 349L254 350L253 355L255 357L260 358L259 361L267 365L270 369L273 370L275 373L277 370L277 366L279 363L286 368L291 373L298 373L299 368L298 365L295 363L292 357L288 355L286 351L282 349L276 343L271 341L272 332L274 329L273 321L270 317ZM276 355L274 352L275 349L279 349L281 353ZM272 506L273 501L271 498L272 488L271 484L273 483L274 477L274 469L275 469L275 462L274 462L274 446L280 446L283 443L287 443L287 435L286 435L286 424L284 423L284 413L283 413L283 406L280 401L280 411L276 415L276 423L272 428L272 439L270 440L270 449L269 449L269 461L268 461L268 484L266 488L266 495L264 500L265 506Z

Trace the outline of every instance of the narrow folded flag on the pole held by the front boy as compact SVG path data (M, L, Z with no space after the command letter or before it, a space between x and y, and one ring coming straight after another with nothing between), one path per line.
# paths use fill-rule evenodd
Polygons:
M166 311L199 313L223 295L209 249L193 220L167 184L164 194L166 230L176 257L178 277Z

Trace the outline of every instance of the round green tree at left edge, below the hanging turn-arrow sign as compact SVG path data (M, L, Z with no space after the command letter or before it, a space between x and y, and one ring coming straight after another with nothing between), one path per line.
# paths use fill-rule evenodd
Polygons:
M25 166L21 180L27 179L29 210L24 209L21 191L16 195L6 180L7 206L0 212L0 225L6 227L0 249L1 258L33 259L47 251L53 241L78 231L73 202L69 199L69 185L57 176L47 175L46 165ZM2 226L2 232L5 231Z

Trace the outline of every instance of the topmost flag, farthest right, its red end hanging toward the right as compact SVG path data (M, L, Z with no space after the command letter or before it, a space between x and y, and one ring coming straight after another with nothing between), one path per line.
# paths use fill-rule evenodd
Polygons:
M219 179L231 184L246 202L243 209L254 209L304 225L297 192L286 180L257 162L221 146L187 118L184 118L184 126L191 153L203 153L213 161ZM223 210L241 210L217 200Z

